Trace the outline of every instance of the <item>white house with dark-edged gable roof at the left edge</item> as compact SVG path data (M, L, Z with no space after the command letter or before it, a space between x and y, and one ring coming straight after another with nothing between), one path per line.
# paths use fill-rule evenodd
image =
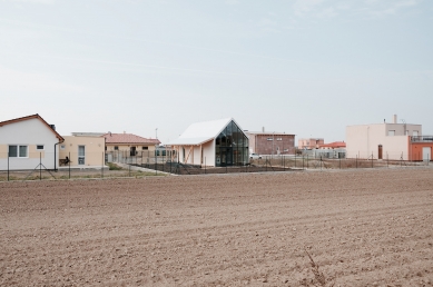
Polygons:
M38 113L0 121L0 170L56 169L63 138ZM43 168L42 167L42 168Z

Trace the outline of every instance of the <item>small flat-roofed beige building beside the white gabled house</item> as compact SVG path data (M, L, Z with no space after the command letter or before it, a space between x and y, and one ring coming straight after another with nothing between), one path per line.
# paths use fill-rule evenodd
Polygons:
M67 157L71 161L71 167L105 165L105 138L91 133L86 136L82 132L72 132L72 136L63 136L63 138L65 141L60 144L59 152L60 166L65 166Z

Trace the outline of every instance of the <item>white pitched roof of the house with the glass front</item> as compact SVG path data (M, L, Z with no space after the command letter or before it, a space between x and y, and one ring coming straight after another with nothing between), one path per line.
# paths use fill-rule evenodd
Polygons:
M188 146L205 144L218 137L218 135L232 120L237 125L233 118L195 122L190 125L177 139L168 142L167 145ZM239 125L237 126L239 127Z

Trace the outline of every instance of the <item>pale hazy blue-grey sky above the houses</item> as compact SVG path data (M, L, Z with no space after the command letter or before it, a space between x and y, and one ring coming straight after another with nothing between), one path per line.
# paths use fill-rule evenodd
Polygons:
M167 142L190 123L433 135L433 1L0 0L0 121Z

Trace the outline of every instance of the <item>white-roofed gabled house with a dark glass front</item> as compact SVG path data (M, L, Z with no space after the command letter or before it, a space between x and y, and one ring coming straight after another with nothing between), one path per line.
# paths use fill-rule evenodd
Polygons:
M248 137L233 118L190 125L168 142L181 164L225 167L248 162Z

